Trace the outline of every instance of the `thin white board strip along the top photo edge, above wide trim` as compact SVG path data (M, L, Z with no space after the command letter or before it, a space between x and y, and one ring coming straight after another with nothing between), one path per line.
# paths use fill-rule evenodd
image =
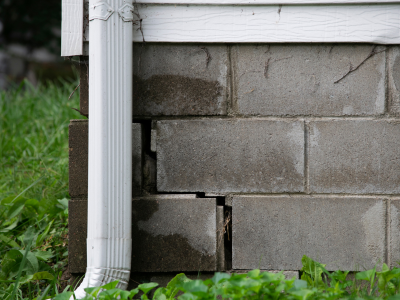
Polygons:
M400 3L399 0L138 0L136 3L146 4L202 4L202 5L303 5L303 4L384 4Z

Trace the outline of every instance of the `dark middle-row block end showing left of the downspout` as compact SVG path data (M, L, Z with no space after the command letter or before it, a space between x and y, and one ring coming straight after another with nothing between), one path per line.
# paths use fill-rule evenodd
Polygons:
M71 120L69 125L69 194L87 197L88 128L87 120Z

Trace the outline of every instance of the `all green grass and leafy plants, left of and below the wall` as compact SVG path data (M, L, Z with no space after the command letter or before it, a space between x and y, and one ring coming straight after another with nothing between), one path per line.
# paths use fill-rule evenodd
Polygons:
M35 88L28 82L0 91L0 300L69 300L66 271L68 239L68 124L83 118L77 82ZM114 299L388 299L400 300L400 268L382 265L350 274L328 272L304 256L301 278L252 270L215 273L208 280L185 274L166 287L140 284L116 288L118 281L88 288L85 300ZM351 277L352 275L353 277Z

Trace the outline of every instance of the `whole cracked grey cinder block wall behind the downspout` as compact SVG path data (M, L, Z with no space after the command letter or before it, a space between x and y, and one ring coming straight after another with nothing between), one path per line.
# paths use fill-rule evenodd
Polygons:
M132 84L133 277L400 260L398 47L135 44ZM73 273L85 159L72 121Z

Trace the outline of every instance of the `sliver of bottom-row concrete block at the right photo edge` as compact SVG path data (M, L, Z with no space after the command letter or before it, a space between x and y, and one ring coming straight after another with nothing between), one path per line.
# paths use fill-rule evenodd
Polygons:
M400 263L400 199L390 200L389 263L391 268L398 268Z

